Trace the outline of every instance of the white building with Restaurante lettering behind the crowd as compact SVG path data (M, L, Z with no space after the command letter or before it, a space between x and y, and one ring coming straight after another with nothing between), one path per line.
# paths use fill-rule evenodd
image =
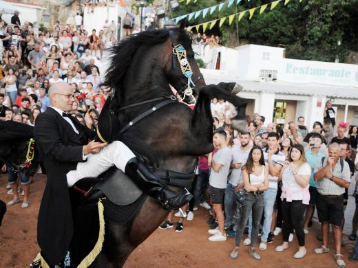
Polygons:
M358 65L293 60L284 58L283 48L262 45L201 50L207 84L238 82L244 87L239 96L249 99L247 114L264 115L265 124L302 115L312 127L323 121L327 100L337 107L336 122L358 124Z

